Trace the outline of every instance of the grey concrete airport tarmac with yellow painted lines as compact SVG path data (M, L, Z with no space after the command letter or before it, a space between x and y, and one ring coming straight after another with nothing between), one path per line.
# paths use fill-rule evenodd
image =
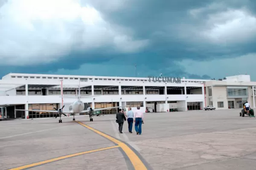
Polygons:
M256 170L256 118L238 109L145 113L142 134L115 115L0 122L1 170Z

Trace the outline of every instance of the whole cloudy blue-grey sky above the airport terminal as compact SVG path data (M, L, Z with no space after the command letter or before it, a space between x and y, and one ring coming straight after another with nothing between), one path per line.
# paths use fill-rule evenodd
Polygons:
M252 0L0 0L12 73L256 81Z

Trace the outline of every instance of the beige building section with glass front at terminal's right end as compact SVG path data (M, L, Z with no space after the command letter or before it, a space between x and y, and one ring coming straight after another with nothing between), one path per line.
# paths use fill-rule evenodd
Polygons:
M205 84L207 105L217 109L237 109L249 102L251 108L255 108L256 82L250 81L250 75L230 76Z

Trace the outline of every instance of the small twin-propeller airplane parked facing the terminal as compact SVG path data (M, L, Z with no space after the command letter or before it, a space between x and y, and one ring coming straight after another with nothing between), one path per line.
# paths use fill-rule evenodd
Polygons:
M61 82L61 87L62 87L62 82ZM92 109L91 107L87 108L87 110L84 110L84 102L81 101L81 96L80 96L80 82L79 82L79 95L78 95L78 100L74 101L70 106L69 106L69 112L64 112L63 108L65 105L63 105L63 89L61 88L61 97L62 97L62 108L53 108L55 111L46 111L46 110L22 110L22 109L15 109L15 111L33 111L33 112L48 112L48 113L57 113L57 118L58 116L60 117L59 123L62 123L61 120L61 115L63 114L64 116L67 116L67 114L70 114L73 116L73 121L76 121L75 119L75 114L76 113L85 113L85 115L89 115L90 117L90 122L93 122L93 112L95 111L102 111L102 110L107 110L107 109L112 109L112 108L123 108L126 106L117 106L117 107L110 107L110 108L100 108L100 109ZM85 97L94 97L94 96L85 96ZM73 97L71 97L73 98Z

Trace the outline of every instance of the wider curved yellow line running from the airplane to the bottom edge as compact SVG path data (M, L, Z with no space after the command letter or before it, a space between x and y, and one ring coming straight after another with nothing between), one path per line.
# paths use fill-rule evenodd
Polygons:
M128 158L130 159L130 161L133 164L135 170L147 170L147 168L145 167L143 162L140 160L140 158L136 155L136 153L134 153L134 151L132 151L131 148L128 147L125 143L123 143L123 142L121 142L117 139L114 139L113 137L108 136L107 134L102 133L99 130L93 129L92 127L87 126L87 125L85 125L81 122L77 122L77 123L79 123L80 125L88 128L90 130L93 130L93 132L98 133L99 135L101 135L101 136L111 140L112 142L118 144L122 148L122 150L126 153Z

